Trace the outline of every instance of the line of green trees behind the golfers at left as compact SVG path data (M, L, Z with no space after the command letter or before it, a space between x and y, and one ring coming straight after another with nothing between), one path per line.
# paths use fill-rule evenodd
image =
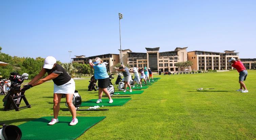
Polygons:
M19 74L27 73L29 75L28 79L32 79L39 74L44 64L44 58L42 57L37 57L36 59L30 57L12 57L2 53L1 50L2 48L0 47L0 61L10 64L0 66L0 76L3 78L8 78L10 73L17 72ZM90 74L91 76L93 73L93 69L89 64L61 63L60 61L57 61L56 63L60 64L71 76L75 75L81 78L82 75ZM45 76L47 76L47 74L45 74Z

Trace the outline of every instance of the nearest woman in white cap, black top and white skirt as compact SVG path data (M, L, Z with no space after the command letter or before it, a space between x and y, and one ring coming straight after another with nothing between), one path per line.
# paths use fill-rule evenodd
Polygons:
M41 79L44 74L47 72L48 76ZM44 65L41 69L41 72L35 76L27 85L24 85L23 88L21 88L21 91L25 91L31 87L40 85L46 81L53 80L54 82L54 91L53 91L53 115L54 118L51 122L49 122L49 125L53 125L58 120L58 115L60 111L60 100L62 94L66 95L66 103L67 107L70 110L72 114L72 121L70 122L70 125L76 125L78 123L78 120L76 118L76 108L72 103L73 94L75 92L75 82L74 80L67 74L65 69L56 63L56 59L52 56L47 56L44 59ZM33 129L33 128L32 128Z

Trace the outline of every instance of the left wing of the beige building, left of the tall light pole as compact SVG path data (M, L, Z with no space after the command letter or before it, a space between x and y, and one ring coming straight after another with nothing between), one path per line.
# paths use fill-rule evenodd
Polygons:
M89 59L95 59L96 57L101 58L103 62L107 62L109 64L106 65L107 72L116 72L114 65L119 63L119 54L103 54L97 56L85 57L84 55L76 56L76 58L72 58L72 63L81 63L88 64Z

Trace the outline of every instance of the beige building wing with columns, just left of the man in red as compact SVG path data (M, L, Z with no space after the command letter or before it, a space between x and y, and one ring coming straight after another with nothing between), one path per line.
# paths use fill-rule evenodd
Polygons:
M205 51L192 51L188 52L188 60L193 61L192 69L197 70L224 70L233 69L231 63L228 62L230 58L239 59L238 53L234 51L219 52L205 52Z

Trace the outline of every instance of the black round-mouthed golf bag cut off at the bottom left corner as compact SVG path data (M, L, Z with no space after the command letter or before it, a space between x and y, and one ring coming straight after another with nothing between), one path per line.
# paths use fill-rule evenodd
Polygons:
M3 128L0 128L0 140L20 140L21 130L15 125L5 125L0 123Z

